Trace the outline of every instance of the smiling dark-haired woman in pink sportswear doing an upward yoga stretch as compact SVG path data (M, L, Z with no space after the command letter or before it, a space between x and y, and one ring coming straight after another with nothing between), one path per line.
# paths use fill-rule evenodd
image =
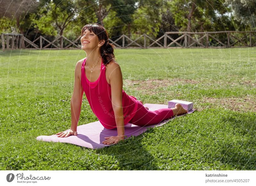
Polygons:
M117 136L105 137L102 143L116 144L124 139L124 125L132 123L147 126L160 123L174 115L187 113L180 104L175 108L150 111L142 101L123 90L121 68L115 61L114 45L108 42L108 33L98 24L87 24L82 28L84 59L76 63L74 91L71 98L71 128L59 132L58 137L77 135L82 97L86 98L100 123L107 129L117 128Z

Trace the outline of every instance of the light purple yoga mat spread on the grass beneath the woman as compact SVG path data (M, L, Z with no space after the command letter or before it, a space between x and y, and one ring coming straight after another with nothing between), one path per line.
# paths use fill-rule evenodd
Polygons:
M144 106L148 107L149 110L152 110L152 111L157 110L159 108L168 108L168 105L162 105L162 104L146 103L144 104ZM195 110L196 109L190 110L188 111L187 114L191 114ZM183 114L183 115L186 115L186 114ZM147 128L161 126L164 123L167 123L168 121L183 115L173 116L172 118L164 120L158 124L149 125L145 127L140 127L140 126L129 123L124 126L124 133L127 136L127 138L131 136L138 136L143 132L145 132ZM68 130L65 130L65 131L68 131ZM56 133L58 133L58 131L56 131ZM79 145L87 148L99 149L99 148L109 146L102 143L102 141L106 140L104 137L108 137L108 136L117 136L117 129L106 129L102 126L100 121L96 121L96 122L77 126L77 136L72 135L72 136L61 138L61 137L58 137L58 135L54 134L51 136L38 136L36 137L36 139L38 141L71 143L71 144L75 144L75 145ZM118 145L118 143L116 145Z

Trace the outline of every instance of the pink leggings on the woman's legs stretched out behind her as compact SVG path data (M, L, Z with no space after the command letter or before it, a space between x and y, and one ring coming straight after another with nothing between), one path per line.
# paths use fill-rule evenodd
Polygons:
M158 124L163 120L169 119L173 116L171 108L160 108L155 111L148 110L144 105L138 101L138 109L129 123L138 126L148 126Z

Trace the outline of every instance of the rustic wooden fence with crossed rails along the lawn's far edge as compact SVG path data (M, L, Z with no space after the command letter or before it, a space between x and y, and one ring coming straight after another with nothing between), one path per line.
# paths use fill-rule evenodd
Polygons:
M121 35L109 39L117 48L231 48L256 46L255 31L219 31L219 32L165 32L158 39L147 34ZM1 34L2 49L81 49L80 37L71 41L58 36L53 41L43 36L34 41L22 34Z

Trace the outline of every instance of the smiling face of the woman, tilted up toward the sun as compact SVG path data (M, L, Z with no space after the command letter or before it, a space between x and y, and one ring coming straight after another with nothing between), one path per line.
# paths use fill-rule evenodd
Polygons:
M80 40L81 40L82 50L94 49L98 47L98 44L99 44L98 36L87 29L84 31Z

